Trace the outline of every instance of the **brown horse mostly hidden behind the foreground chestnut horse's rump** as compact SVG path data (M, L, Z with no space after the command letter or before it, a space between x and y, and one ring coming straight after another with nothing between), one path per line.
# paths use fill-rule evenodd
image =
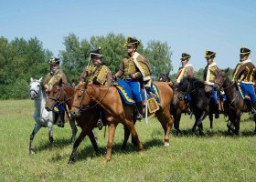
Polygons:
M168 77L168 74L160 74L159 81L160 82L172 82L171 79ZM178 136L178 134L187 134L187 131L182 131L179 129L181 114L182 113L186 114L187 104L186 104L185 100L178 99L177 86L172 86L172 88L174 90L174 96L173 96L173 100L171 103L170 112L174 116L174 119L175 119L174 126L176 128L176 136ZM210 132L212 132L213 115L210 113L208 115L208 118L210 121L210 125L209 125Z

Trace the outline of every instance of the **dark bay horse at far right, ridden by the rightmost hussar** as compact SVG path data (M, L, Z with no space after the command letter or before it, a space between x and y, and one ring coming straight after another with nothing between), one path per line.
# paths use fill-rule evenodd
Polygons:
M225 71L219 72L215 80L214 87L217 90L224 89L229 103L229 120L234 124L235 129L228 125L229 129L240 136L240 116L242 112L251 111L251 102L242 100L236 82L231 82L227 75L229 68ZM256 136L256 115L253 115L255 122L254 136Z

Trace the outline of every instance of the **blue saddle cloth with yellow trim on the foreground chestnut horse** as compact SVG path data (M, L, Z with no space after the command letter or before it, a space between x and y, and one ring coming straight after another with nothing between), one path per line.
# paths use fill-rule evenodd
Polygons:
M120 95L123 97L123 100L127 105L133 105L133 106L136 105L136 103L133 99L132 89L128 84L126 84L125 81L120 80L118 82L115 82L114 86L116 86L118 88ZM142 100L144 102L144 91L142 88L140 90L140 93L142 96ZM155 86L155 84L153 84L150 88L146 89L146 93L147 93L147 95L146 95L147 99L154 96L159 108L162 107L160 104L160 99L159 99L159 91L158 91L157 86Z

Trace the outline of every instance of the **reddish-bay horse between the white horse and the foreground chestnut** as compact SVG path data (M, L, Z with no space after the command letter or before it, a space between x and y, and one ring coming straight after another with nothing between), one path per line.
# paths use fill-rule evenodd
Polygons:
M60 79L59 83L56 83L50 90L48 100L45 105L46 109L48 111L53 110L54 106L62 103L71 107L74 100L74 93L75 89L62 83L62 79ZM97 119L98 116L95 116L95 114L90 110L83 111L79 117L76 117L76 121L78 126L81 128L81 132L80 136L74 143L74 148L80 145L80 142L85 136L89 136L96 155L100 154L100 150L92 132L92 129L96 126Z

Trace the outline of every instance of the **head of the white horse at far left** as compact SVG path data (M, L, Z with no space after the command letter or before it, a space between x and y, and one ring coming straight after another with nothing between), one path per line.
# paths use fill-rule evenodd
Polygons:
M37 100L42 93L42 86L41 86L42 77L40 79L33 79L30 78L30 90L29 90L29 96L33 100Z

